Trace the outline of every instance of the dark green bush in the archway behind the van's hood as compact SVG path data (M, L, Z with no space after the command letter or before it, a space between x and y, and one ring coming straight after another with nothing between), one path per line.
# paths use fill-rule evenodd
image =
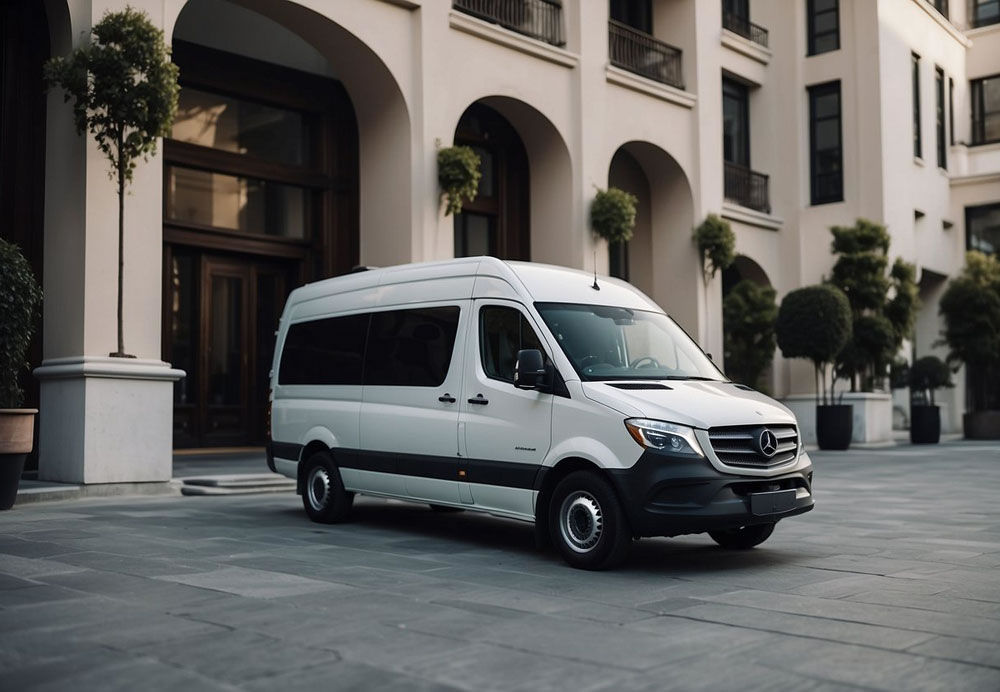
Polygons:
M774 358L774 289L740 281L722 301L726 372L737 382L761 389L760 378Z

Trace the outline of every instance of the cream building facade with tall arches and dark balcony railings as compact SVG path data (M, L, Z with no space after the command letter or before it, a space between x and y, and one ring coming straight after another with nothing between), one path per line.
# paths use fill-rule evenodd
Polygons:
M998 233L1000 143L980 142L1000 125L983 124L989 104L975 120L972 93L1000 74L996 2L129 4L163 28L182 86L172 137L126 202L134 360L107 357L117 204L105 160L61 94L36 106L44 199L24 214L45 290L42 478L160 481L175 446L259 443L284 296L355 265L482 252L613 265L721 360L728 282L766 282L779 299L816 283L833 263L829 226L866 217L888 225L893 258L918 266L923 355L941 353L937 302L964 262L967 210L985 209L977 224ZM61 55L124 5L45 0L18 16ZM943 161L939 118L954 132ZM437 150L453 143L485 162L459 217L437 184ZM639 198L624 257L587 228L609 185ZM692 230L709 213L730 221L739 258L706 285ZM769 378L808 436L811 404L797 395L812 392L811 366L779 353ZM888 434L889 395L873 396L856 399L861 439ZM946 430L963 397L950 392Z

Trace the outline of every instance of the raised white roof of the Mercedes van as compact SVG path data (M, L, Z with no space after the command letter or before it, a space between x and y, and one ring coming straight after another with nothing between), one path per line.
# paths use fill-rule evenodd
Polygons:
M297 288L289 302L304 302L368 288L375 290L379 286L399 283L456 277L498 278L510 284L526 301L531 302L589 303L661 311L640 290L610 276L598 276L597 285L600 288L595 290L595 276L592 272L537 262L513 262L496 257L462 257L355 272Z

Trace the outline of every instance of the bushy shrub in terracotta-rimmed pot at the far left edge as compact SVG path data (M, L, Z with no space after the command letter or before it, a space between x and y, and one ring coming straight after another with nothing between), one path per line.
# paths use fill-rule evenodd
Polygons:
M10 509L24 460L31 452L38 409L24 403L18 377L27 367L25 353L42 292L31 266L13 243L0 238L0 509Z

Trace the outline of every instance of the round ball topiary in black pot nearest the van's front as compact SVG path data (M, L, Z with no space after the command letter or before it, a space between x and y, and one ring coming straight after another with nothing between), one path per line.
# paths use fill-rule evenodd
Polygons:
M816 370L816 441L820 449L847 449L854 433L854 407L834 405L827 369L851 338L851 306L836 286L792 291L781 301L774 325L786 358L807 358ZM834 380L835 382L836 380Z

